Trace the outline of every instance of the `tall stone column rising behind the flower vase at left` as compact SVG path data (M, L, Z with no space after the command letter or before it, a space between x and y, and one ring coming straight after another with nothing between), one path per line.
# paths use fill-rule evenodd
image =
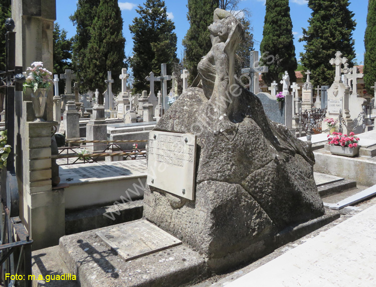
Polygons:
M16 25L16 66L26 71L33 62L43 62L43 67L53 72L56 0L12 1L12 18ZM44 115L48 121L53 120L53 94L52 88L48 91ZM24 93L24 101L31 101L31 95Z

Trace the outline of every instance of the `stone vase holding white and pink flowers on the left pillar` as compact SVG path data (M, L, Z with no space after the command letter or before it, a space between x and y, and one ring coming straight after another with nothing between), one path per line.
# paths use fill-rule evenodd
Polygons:
M52 85L52 73L43 68L42 62L34 62L27 69L29 72L24 83L24 92L31 89L33 109L36 116L34 121L45 121L43 114L46 108L47 92Z

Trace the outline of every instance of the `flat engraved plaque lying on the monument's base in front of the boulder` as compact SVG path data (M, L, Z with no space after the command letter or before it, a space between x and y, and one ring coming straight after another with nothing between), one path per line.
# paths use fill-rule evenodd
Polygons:
M96 234L125 261L181 244L179 239L145 219L106 228Z

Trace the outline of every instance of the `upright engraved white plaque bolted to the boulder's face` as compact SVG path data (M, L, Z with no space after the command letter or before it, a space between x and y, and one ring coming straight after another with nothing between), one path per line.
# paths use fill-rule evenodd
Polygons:
M150 131L147 184L193 200L196 138L194 134Z

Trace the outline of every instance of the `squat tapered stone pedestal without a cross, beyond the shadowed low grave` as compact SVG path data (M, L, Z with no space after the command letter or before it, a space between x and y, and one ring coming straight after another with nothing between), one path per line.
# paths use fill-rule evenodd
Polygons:
M93 116L86 125L87 140L106 140L107 124L104 118L104 106L95 104L93 107ZM101 143L87 144L87 150L90 152L103 152L104 145Z

